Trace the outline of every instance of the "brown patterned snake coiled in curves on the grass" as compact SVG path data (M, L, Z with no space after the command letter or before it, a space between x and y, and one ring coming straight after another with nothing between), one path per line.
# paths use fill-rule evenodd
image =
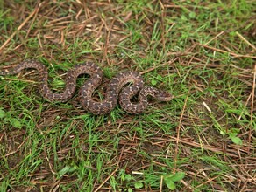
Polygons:
M120 72L110 80L106 87L103 101L93 99L96 88L101 85L103 79L102 69L92 63L77 64L68 70L65 78L65 88L61 93L53 93L48 86L48 72L46 65L36 60L25 60L18 65L0 69L0 75L18 74L24 69L35 69L39 72L39 93L48 101L66 102L75 94L76 79L81 74L89 74L89 79L84 82L78 91L79 102L83 109L93 114L110 113L117 102L126 113L143 113L148 106L148 96L160 101L169 101L173 95L167 91L153 86L144 86L144 79L139 72ZM138 96L138 101L132 98Z

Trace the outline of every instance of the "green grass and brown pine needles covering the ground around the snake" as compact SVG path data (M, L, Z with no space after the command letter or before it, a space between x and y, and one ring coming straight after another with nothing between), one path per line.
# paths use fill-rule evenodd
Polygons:
M76 63L174 94L145 113L47 102L37 72L0 77L1 191L254 191L255 7L241 1L1 1L0 60ZM82 85L85 77L78 80Z

